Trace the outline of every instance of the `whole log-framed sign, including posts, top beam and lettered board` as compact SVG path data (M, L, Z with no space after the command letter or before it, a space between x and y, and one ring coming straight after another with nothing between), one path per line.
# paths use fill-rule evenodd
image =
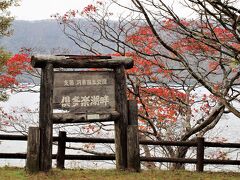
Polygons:
M128 107L125 69L133 67L133 60L110 56L37 55L32 56L31 64L42 69L39 109L40 171L47 172L52 167L53 123L101 121L114 121L116 167L118 170L126 170ZM86 71L80 76L73 73L70 75L69 72L66 76L71 79L63 79L62 82L61 78L56 78L61 73L54 73L54 68L103 68L108 69L108 72L100 73L98 69L89 71L90 76ZM81 79L83 77L86 79ZM78 89L80 86L87 94L81 94ZM94 91L93 87L99 90ZM53 113L55 105L57 109L60 107L60 110L68 113Z

